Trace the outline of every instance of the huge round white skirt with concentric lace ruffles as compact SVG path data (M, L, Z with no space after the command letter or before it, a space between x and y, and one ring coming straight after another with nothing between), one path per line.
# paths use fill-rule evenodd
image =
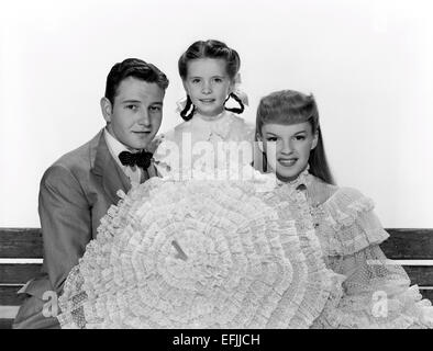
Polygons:
M341 281L325 268L301 192L153 178L103 217L65 283L58 319L63 328L308 328Z

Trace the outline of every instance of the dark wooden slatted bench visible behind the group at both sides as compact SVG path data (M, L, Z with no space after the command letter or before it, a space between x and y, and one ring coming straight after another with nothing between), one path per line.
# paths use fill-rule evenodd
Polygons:
M412 284L433 301L433 229L387 229L381 245L389 259L401 262ZM38 228L0 228L0 329L11 328L22 299L16 291L34 278L42 265Z

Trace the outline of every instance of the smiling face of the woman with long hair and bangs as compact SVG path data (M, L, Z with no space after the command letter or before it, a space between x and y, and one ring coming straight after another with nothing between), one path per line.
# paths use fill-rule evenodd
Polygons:
M312 132L309 122L264 124L262 135L268 166L284 182L295 180L307 168L310 152L318 144L318 133Z

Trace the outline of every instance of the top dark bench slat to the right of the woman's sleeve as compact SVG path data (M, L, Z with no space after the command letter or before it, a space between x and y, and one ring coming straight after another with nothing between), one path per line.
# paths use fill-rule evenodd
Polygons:
M432 260L433 229L386 229L390 237L380 245L395 260Z

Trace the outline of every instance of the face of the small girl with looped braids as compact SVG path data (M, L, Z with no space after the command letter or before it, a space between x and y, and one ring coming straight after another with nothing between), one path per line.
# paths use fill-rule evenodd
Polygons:
M225 99L233 88L225 66L224 59L216 58L198 58L188 63L184 88L201 115L212 117L224 111Z

